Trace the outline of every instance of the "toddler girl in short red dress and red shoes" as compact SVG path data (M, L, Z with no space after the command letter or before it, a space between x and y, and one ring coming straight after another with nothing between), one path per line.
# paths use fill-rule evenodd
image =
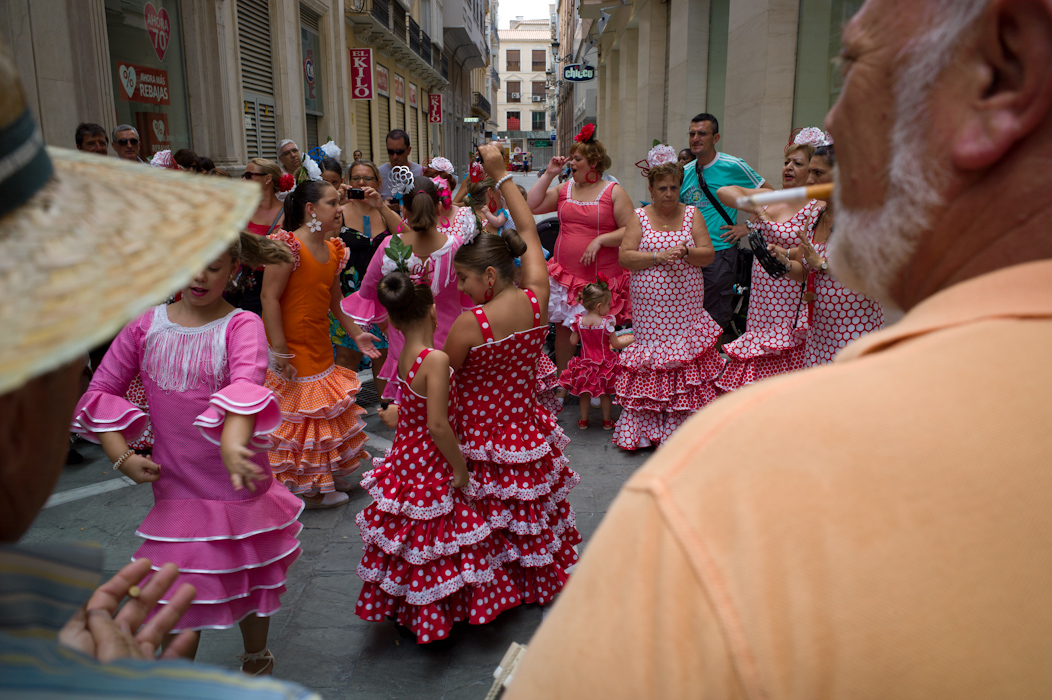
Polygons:
M569 394L581 399L581 420L578 427L588 429L588 409L591 399L599 398L603 411L603 429L613 429L610 409L614 380L618 377L618 354L632 343L631 336L614 333L614 318L610 315L610 287L605 282L591 282L581 289L584 314L578 314L570 326L570 342L581 342L581 355L570 359L559 383Z

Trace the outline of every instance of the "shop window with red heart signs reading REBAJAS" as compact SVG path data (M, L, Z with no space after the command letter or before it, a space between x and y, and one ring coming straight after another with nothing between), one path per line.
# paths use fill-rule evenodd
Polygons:
M117 123L138 129L143 159L193 145L180 17L179 0L106 3Z

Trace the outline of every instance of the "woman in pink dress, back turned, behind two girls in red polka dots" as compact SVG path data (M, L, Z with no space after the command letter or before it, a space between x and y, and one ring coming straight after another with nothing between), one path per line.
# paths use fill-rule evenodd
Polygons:
M373 323L386 322L387 309L377 298L377 285L384 275L398 269L398 262L391 257L391 254L388 254L388 249L391 249L393 244L394 248L391 249L391 253L394 253L396 249L399 249L400 243L408 245L411 248L407 259L409 276L414 281L430 286L431 293L434 295L434 305L439 313L434 342L441 345L446 340L449 327L466 307L464 303L466 300L457 289L453 256L464 242L464 233L477 228L474 215L469 207L461 206L457 207L451 221L443 220L438 216L428 217L424 221L414 215L409 206L406 206L404 207L406 221L403 222L383 203L379 193L371 195L369 187L365 189L366 201L377 207L384 216L388 231L399 233L388 236L377 254L372 256L372 261L362 279L362 285L355 294L343 300L343 311L356 323L365 328ZM427 194L433 201L439 201L438 187L431 180L417 178L412 192L418 189ZM401 394L398 382L398 358L402 354L402 345L405 341L398 328L390 328L387 339L390 347L387 353L387 361L380 367L376 376L387 382L382 398L398 403Z

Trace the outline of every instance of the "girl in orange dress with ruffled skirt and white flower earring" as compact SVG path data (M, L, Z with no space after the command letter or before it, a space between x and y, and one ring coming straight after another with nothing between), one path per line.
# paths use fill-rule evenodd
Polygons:
M332 360L331 311L363 353L378 357L372 335L340 308L339 274L347 248L339 238L340 206L327 182L305 180L285 199L285 226L271 238L285 243L295 261L267 265L263 274L263 322L274 352L267 386L281 399L281 426L270 452L275 478L302 496L308 508L346 503L351 483L341 476L358 468L365 443L365 409L355 403L358 375Z

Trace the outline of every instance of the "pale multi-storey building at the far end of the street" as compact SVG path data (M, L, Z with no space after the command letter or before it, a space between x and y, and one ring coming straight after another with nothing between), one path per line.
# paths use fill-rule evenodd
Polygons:
M552 155L548 83L551 68L551 20L517 17L501 29L498 58L501 92L497 103L498 138L513 160L530 154L541 167Z

